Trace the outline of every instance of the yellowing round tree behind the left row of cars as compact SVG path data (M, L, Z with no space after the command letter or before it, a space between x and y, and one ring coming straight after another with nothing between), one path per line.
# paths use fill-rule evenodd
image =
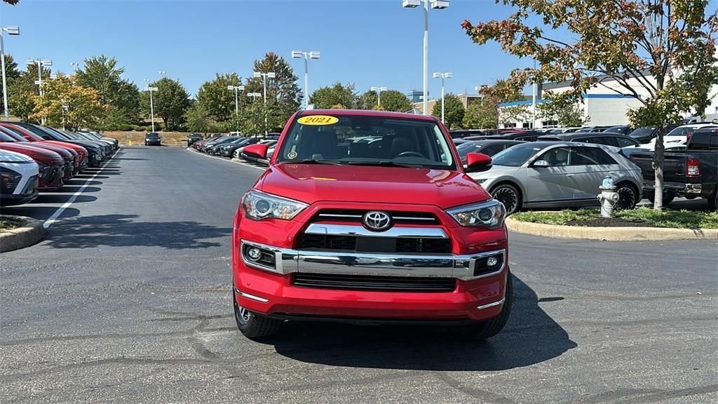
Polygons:
M33 96L31 119L45 117L47 125L70 130L98 129L105 106L94 88L80 86L75 75L58 75L42 83L44 94Z

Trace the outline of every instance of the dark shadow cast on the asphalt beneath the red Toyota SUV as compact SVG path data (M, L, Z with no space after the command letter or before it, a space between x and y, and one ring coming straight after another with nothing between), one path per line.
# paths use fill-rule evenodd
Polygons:
M558 357L577 346L541 307L536 293L513 277L514 302L505 329L486 341L467 341L433 326L354 326L287 322L276 352L302 362L342 367L412 370L504 370ZM238 331L239 332L239 331Z

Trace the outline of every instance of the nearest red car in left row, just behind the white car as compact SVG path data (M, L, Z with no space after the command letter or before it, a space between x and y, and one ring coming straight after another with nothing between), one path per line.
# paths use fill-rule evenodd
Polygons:
M9 141L7 139L10 139ZM43 149L42 147L34 147L28 144L15 142L4 133L0 133L0 150L9 150L17 152L21 155L32 157L32 160L39 165L39 181L37 188L39 190L57 190L64 185L63 177L68 164L61 155L52 150Z

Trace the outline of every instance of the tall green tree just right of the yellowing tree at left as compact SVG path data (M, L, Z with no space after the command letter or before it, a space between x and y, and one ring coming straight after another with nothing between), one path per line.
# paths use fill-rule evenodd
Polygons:
M102 129L117 129L140 120L139 88L121 77L124 71L118 67L115 58L101 55L85 59L83 68L75 72L80 86L94 88L100 102L107 106L100 125Z

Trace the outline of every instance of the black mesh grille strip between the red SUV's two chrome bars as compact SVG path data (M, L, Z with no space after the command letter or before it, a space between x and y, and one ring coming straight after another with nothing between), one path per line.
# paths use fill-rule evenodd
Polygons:
M353 252L401 252L449 254L449 239L419 237L361 237L302 234L302 249L332 249Z

